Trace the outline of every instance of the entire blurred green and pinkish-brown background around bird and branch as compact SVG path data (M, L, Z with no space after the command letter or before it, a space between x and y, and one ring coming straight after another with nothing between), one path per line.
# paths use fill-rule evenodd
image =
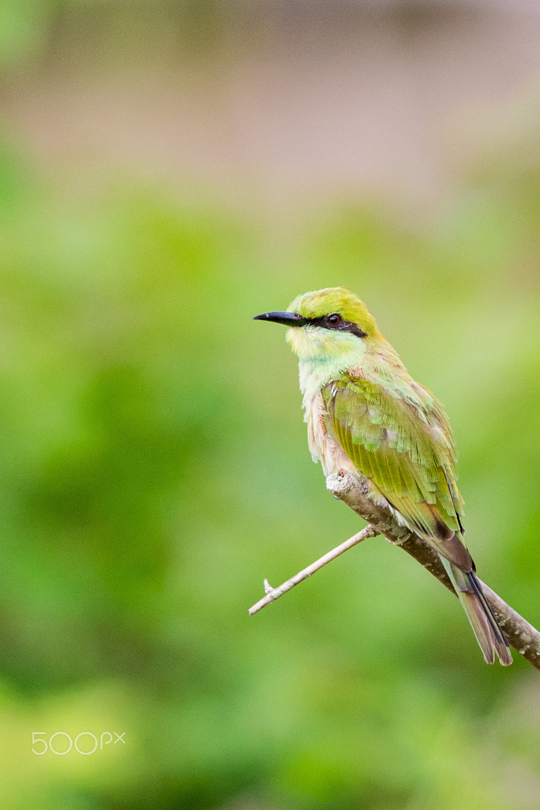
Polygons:
M479 573L540 623L540 24L490 14L2 3L2 808L540 808L538 672L485 666L397 548L247 612L361 526L250 320L342 284L444 402ZM125 744L32 753L57 731Z

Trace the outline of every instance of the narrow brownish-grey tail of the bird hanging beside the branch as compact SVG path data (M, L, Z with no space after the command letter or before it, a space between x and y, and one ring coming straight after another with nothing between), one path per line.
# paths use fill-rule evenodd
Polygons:
M485 595L478 577L474 571L465 573L453 565L443 556L440 557L446 573L470 621L476 640L484 654L487 663L495 661L495 652L504 667L512 663L512 654L499 622L495 619L493 611Z

